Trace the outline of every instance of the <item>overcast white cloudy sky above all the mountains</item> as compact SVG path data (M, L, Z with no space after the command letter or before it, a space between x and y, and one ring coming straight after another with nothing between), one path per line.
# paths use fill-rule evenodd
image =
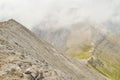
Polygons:
M15 19L28 28L50 18L59 24L81 21L120 23L120 0L0 0L0 21Z

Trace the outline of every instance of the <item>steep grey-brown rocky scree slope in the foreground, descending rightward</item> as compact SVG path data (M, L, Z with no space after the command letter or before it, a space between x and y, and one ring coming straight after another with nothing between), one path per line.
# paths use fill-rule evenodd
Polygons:
M1 80L106 80L14 20L0 23Z

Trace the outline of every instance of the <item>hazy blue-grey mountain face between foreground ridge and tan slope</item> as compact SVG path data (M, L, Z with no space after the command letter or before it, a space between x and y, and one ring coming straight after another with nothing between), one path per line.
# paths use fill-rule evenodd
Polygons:
M57 29L39 29L38 27L35 27L32 29L33 32L35 32L38 36L40 36L42 39L46 40L47 42L51 43L55 47L66 50L65 44L67 43L67 36L69 35L70 31L68 29L61 28L59 30ZM59 44L60 43L60 44Z

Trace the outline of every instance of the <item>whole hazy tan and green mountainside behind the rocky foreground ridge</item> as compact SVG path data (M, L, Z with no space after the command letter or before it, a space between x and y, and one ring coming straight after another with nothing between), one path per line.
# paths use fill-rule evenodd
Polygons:
M113 25L114 24L110 23L109 25L85 22L76 23L70 25L69 28L62 28L62 30L66 32L60 31L59 33L61 28L53 31L52 36L55 36L57 32L60 35L54 37L55 39L47 33L50 31L47 28L45 28L45 34L42 36L38 34L39 31L36 32L33 30L33 32L48 42L50 40L51 43L54 43L53 39L56 40L57 43L54 43L54 45L59 46L63 44L64 46L60 48L64 48L63 51L67 54L78 59L88 60L88 63L93 69L112 80L119 80L120 32L119 26ZM37 27L33 29L39 30ZM43 31L41 30L40 33L42 34ZM49 39L44 38L44 36L49 36ZM64 36L64 38L62 36Z

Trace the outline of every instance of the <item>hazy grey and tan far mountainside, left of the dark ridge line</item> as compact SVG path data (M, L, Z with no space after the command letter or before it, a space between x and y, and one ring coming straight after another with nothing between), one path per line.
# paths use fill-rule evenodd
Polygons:
M96 26L103 27L103 25L76 23L70 25L69 28L62 27L58 29L41 29L37 26L34 27L32 31L42 39L52 43L53 46L58 47L72 56L76 56L80 53L85 53L86 55L86 53L94 47L94 41L99 39L98 36L106 33L103 27L102 30L101 28L99 30L99 32L102 31L102 34L97 35L99 32L94 31L94 29L96 28L98 30L99 28ZM80 58L89 58L89 56L86 55L86 57L83 57L80 55Z

